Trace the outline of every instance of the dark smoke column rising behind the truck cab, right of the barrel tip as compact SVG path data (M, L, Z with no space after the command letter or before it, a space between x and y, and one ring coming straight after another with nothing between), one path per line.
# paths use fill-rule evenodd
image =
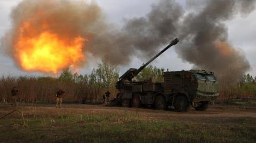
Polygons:
M184 42L176 51L197 68L214 71L220 78L229 73L239 79L250 64L243 51L228 43L225 22L237 13L249 14L254 4L255 1L207 1L201 11L184 17L180 35Z

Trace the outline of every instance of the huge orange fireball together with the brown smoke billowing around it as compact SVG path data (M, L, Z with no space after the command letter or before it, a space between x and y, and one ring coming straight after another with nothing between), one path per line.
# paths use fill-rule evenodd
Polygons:
M82 1L24 0L11 20L4 51L22 70L45 73L81 68L85 43L106 28L100 7Z

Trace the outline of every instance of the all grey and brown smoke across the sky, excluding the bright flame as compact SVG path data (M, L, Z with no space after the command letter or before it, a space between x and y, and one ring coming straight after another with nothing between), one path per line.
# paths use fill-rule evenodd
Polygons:
M33 33L27 31L29 36L46 30L64 41L81 37L84 53L114 65L124 65L134 56L153 56L159 51L158 47L179 37L181 43L176 51L183 60L199 69L216 72L220 77L230 70L235 77L241 77L250 69L250 64L241 50L228 43L225 22L238 13L246 16L252 12L255 1L196 2L201 6L190 2L190 9L196 11L188 13L174 0L162 0L153 4L146 16L127 19L122 28L115 28L95 3L24 0L12 11L13 27L2 39L2 45L20 65L14 50L15 40L20 34L19 28L30 21L34 30ZM74 65L77 64L81 65L81 61Z

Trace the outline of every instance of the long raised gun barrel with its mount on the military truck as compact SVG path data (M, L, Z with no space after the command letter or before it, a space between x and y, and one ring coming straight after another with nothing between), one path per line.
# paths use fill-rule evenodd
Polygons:
M131 68L129 70L127 70L120 78L119 81L117 81L116 83L116 89L120 90L121 86L121 81L122 80L129 80L131 81L136 75L138 75L144 68L146 68L146 66L151 63L152 61L154 61L159 55L163 54L167 49L169 49L171 46L176 45L177 43L179 43L179 39L175 38L174 40L171 41L171 43L165 47L161 52L159 52L157 55L155 55L153 58L151 58L146 64L140 66L139 69L134 69Z

